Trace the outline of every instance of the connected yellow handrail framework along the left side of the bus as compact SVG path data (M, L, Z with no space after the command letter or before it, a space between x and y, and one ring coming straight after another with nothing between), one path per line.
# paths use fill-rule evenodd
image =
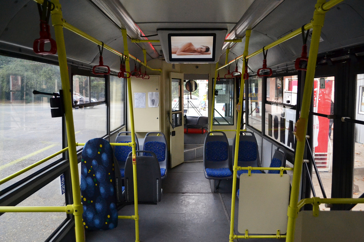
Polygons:
M39 4L43 4L43 0L34 0ZM68 24L66 20L62 17L62 7L59 4L59 0L51 0L54 4L54 9L51 11L52 17L52 25L54 26L55 30L55 38L57 44L57 52L58 52L58 61L59 61L59 69L62 81L62 89L63 90L71 90L70 87L70 80L68 75L68 67L67 67L67 56L66 56L66 47L64 44L64 35L63 35L63 28L67 28L72 32L79 34L80 36L100 45L102 44L101 41L96 40L92 36L82 32L79 29L76 29L74 26ZM129 55L128 46L127 46L127 33L126 29L122 29L123 34L123 42L124 42L124 53L126 56L136 59L135 57ZM112 53L115 53L119 56L123 56L123 54L117 52L116 50L112 49L110 46L104 45L104 48L110 50ZM137 59L136 59L137 60ZM138 62L141 62L137 60ZM141 62L142 63L142 62ZM142 63L149 69L151 69L146 64ZM151 70L159 70L159 69L151 69ZM130 72L129 66L129 58L126 58L126 71ZM135 131L134 131L134 114L132 108L132 95L131 95L131 79L127 78L127 87L128 87L128 98L129 98L129 114L130 114L130 126L131 126L131 142L130 143L111 143L112 145L128 145L132 147L132 159L133 159L133 179L134 179L134 210L135 215L132 216L118 216L118 218L129 218L135 220L135 242L139 242L139 215L138 215L138 186L137 186L137 166L135 162L136 158L136 142L135 142ZM76 143L75 140L75 128L74 128L74 119L73 119L73 111L72 111L72 97L70 91L63 92L63 105L64 105L64 112L65 112L65 119L66 119L66 129L67 129L67 142L68 147L62 149L61 151L48 156L47 158L38 161L37 163L30 165L22 169L19 172L14 173L11 176L5 177L2 179L0 184L19 176L20 174L28 171L36 167L37 165L52 159L53 157L59 155L62 152L68 150L69 157L70 157L70 172L71 172L71 181L72 181L72 198L74 204L70 204L67 206L31 206L31 207L24 207L24 206L0 206L0 213L3 212L66 212L74 215L75 218L75 237L76 242L84 242L84 227L82 223L82 213L83 213L83 206L81 202L81 193L80 193L80 183L79 183L79 172L78 172L78 160L77 160L77 153L76 153L76 146L84 145L85 143Z

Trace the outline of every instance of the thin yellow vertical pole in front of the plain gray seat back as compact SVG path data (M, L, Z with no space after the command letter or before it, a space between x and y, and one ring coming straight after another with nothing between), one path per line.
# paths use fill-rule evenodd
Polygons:
M128 58L125 61L126 71L130 72L129 66L129 51L128 51L128 42L127 42L127 34L126 29L121 30L123 34L123 42L124 42L124 55ZM137 184L137 163L135 161L136 152L135 152L135 129L134 129L134 111L133 111L133 99L131 94L131 77L127 78L127 86L128 86L128 103L129 103L129 116L130 116L130 131L131 131L131 143L133 144L132 148L132 158L133 158L133 179L134 179L134 211L135 211L135 242L139 242L139 213L138 213L138 184Z

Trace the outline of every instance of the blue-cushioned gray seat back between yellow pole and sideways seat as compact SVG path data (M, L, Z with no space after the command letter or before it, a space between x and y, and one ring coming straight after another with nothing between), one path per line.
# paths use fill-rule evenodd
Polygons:
M245 135L243 135L245 134ZM233 143L233 155L235 154L235 140ZM238 166L261 167L257 139L253 132L240 132Z

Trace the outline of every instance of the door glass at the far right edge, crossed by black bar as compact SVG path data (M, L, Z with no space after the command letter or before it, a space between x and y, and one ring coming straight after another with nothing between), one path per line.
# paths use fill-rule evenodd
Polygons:
M355 119L364 121L364 74L356 75L356 114ZM354 147L354 179L353 197L357 198L364 193L364 125L355 124ZM364 204L357 204L352 210L363 210Z

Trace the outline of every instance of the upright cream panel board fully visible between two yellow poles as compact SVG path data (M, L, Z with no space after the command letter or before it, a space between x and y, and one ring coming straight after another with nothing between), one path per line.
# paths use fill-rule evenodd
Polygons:
M289 200L289 175L248 174L240 176L238 232L285 234Z

